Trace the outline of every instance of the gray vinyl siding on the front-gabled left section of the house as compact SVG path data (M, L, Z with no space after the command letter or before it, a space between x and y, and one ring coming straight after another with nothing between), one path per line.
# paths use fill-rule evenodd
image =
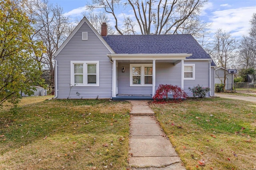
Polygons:
M82 32L88 32L88 40L82 40ZM58 99L99 99L112 97L112 63L107 57L110 51L90 29L86 22L56 56L58 61ZM70 61L99 61L99 87L73 86L70 91ZM80 93L78 97L76 92Z

